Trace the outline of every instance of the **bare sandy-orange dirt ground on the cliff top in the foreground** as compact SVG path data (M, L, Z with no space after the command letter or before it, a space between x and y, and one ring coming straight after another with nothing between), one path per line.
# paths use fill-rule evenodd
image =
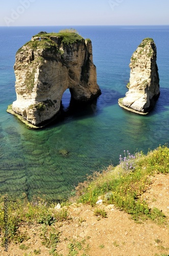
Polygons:
M158 174L151 178L152 183L143 195L150 207L157 207L169 218L169 175ZM99 205L107 212L107 218L94 215L90 205L72 204L68 207L70 220L55 223L54 228L61 232L57 245L58 254L90 256L154 256L169 255L169 227L158 226L152 221L141 224L134 222L114 205ZM20 249L20 244L9 244L8 252L0 248L0 255L49 255L49 249L42 245L41 226L22 227L31 237L23 242L28 249ZM78 254L69 254L69 248ZM76 247L75 247L76 246ZM86 253L86 254L85 254Z

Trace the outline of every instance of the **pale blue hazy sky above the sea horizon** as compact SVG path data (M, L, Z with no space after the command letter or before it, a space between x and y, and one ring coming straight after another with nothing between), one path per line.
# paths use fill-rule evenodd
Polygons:
M169 25L168 0L6 0L0 26Z

